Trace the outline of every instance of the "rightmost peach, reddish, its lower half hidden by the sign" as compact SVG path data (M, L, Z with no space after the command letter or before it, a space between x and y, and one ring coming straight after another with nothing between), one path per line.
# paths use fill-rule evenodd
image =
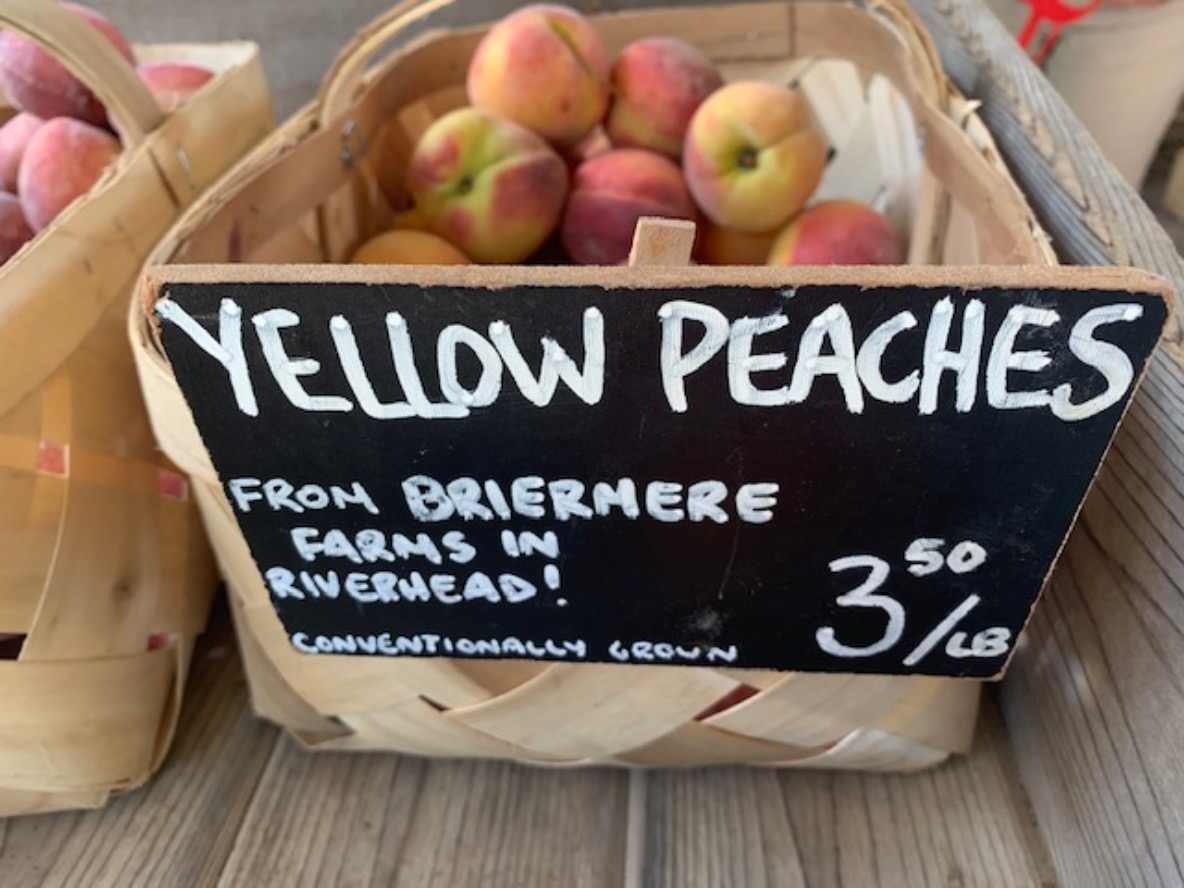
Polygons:
M900 265L905 244L883 215L857 200L824 200L777 236L770 265Z

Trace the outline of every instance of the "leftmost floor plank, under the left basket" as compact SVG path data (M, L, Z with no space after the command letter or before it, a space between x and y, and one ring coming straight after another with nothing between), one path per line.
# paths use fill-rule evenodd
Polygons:
M176 742L155 779L98 811L0 821L0 882L213 883L278 732L247 709L225 614L212 625L194 656Z

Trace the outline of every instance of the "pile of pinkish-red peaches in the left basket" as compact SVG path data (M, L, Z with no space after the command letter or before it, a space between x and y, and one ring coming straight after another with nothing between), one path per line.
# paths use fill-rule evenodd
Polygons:
M102 14L63 4L111 41L129 64L131 46ZM213 72L184 62L135 65L161 108L174 111ZM122 144L95 94L40 46L0 33L0 91L18 114L0 127L0 263L91 189Z

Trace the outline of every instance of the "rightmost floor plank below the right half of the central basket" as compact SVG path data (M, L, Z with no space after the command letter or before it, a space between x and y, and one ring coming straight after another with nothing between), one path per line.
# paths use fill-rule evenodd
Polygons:
M656 771L635 787L645 888L1051 883L993 699L969 755L915 774Z

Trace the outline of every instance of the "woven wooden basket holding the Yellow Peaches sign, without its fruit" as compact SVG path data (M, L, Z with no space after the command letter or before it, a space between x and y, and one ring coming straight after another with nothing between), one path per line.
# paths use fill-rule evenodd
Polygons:
M403 161L464 102L482 28L375 51L436 8L404 2L360 32L317 101L284 123L156 252L160 263L340 262L403 208ZM835 148L821 194L862 198L920 264L1053 264L974 110L902 2L684 6L592 17L610 51L642 34L702 47L728 78L798 81ZM546 765L752 762L916 768L966 748L979 684L932 677L297 654L238 532L142 309L130 335L159 439L188 472L231 591L255 707L317 749Z

